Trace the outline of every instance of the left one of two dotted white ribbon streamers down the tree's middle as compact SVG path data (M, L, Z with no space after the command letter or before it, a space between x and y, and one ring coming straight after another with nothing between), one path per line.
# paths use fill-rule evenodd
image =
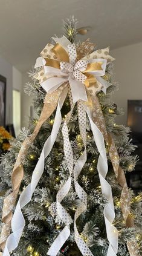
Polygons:
M64 154L66 158L66 163L69 169L69 177L68 180L65 182L65 184L62 186L62 188L57 192L57 214L62 219L62 222L65 223L65 228L60 232L60 234L56 237L53 244L51 245L50 249L48 250L47 254L50 256L56 256L59 252L60 248L62 248L65 241L68 239L70 235L70 229L69 225L71 223L71 217L69 216L68 212L65 211L63 206L60 204L63 200L63 198L68 194L69 189L71 188L71 174L73 172L73 149L71 148L71 143L69 142L69 134L68 134L68 127L67 123L69 122L71 118L71 114L74 109L74 104L72 103L71 98L71 91L69 88L68 91L69 99L70 99L70 105L71 105L71 111L66 115L65 121L63 123L62 127L62 135L63 135L63 149Z

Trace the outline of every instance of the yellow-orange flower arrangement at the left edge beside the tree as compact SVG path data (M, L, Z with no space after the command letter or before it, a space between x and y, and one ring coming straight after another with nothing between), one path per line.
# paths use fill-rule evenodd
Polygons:
M10 133L8 133L3 126L0 126L0 156L2 153L6 153L10 148L9 140L11 137Z

